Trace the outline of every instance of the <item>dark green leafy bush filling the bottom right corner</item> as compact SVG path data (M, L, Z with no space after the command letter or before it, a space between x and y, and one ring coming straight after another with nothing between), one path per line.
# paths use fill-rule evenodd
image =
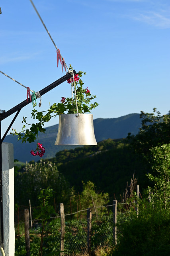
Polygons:
M119 228L119 225L118 225ZM170 255L170 212L157 205L145 202L139 216L133 215L121 224L118 245L113 256L168 256Z

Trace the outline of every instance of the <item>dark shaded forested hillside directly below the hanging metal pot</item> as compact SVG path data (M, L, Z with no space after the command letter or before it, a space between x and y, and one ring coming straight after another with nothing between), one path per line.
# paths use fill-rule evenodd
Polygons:
M126 140L104 140L98 146L84 146L58 152L50 160L58 166L76 192L82 191L82 181L94 182L98 190L119 197L127 181L135 173L140 186L146 187L147 166L143 158L130 150Z

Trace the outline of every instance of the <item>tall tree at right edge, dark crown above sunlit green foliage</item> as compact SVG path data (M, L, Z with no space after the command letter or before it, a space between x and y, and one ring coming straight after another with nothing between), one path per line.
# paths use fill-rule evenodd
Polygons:
M149 163L147 174L154 190L152 194L163 202L164 207L170 194L170 112L160 115L141 111L142 127L137 135L128 135L130 146Z

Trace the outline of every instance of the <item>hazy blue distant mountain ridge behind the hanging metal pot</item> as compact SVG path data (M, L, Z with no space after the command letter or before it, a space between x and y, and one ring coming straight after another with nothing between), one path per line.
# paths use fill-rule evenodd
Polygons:
M81 146L55 146L57 137L58 124L46 128L45 134L39 134L39 142L43 144L46 149L44 159L53 158L55 154L64 149L74 149ZM94 132L96 141L100 142L108 138L118 139L126 138L128 132L137 134L141 127L140 114L129 114L119 118L97 118L94 120ZM31 160L38 161L39 157L31 156L30 151L36 148L35 143L21 143L17 136L8 135L4 142L10 142L14 145L14 159L20 162L29 162Z

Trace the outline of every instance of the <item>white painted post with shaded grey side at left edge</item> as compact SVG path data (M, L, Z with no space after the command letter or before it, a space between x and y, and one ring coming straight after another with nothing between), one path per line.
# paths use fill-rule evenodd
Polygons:
M2 143L2 188L4 215L3 247L5 256L14 256L14 148L12 143Z

